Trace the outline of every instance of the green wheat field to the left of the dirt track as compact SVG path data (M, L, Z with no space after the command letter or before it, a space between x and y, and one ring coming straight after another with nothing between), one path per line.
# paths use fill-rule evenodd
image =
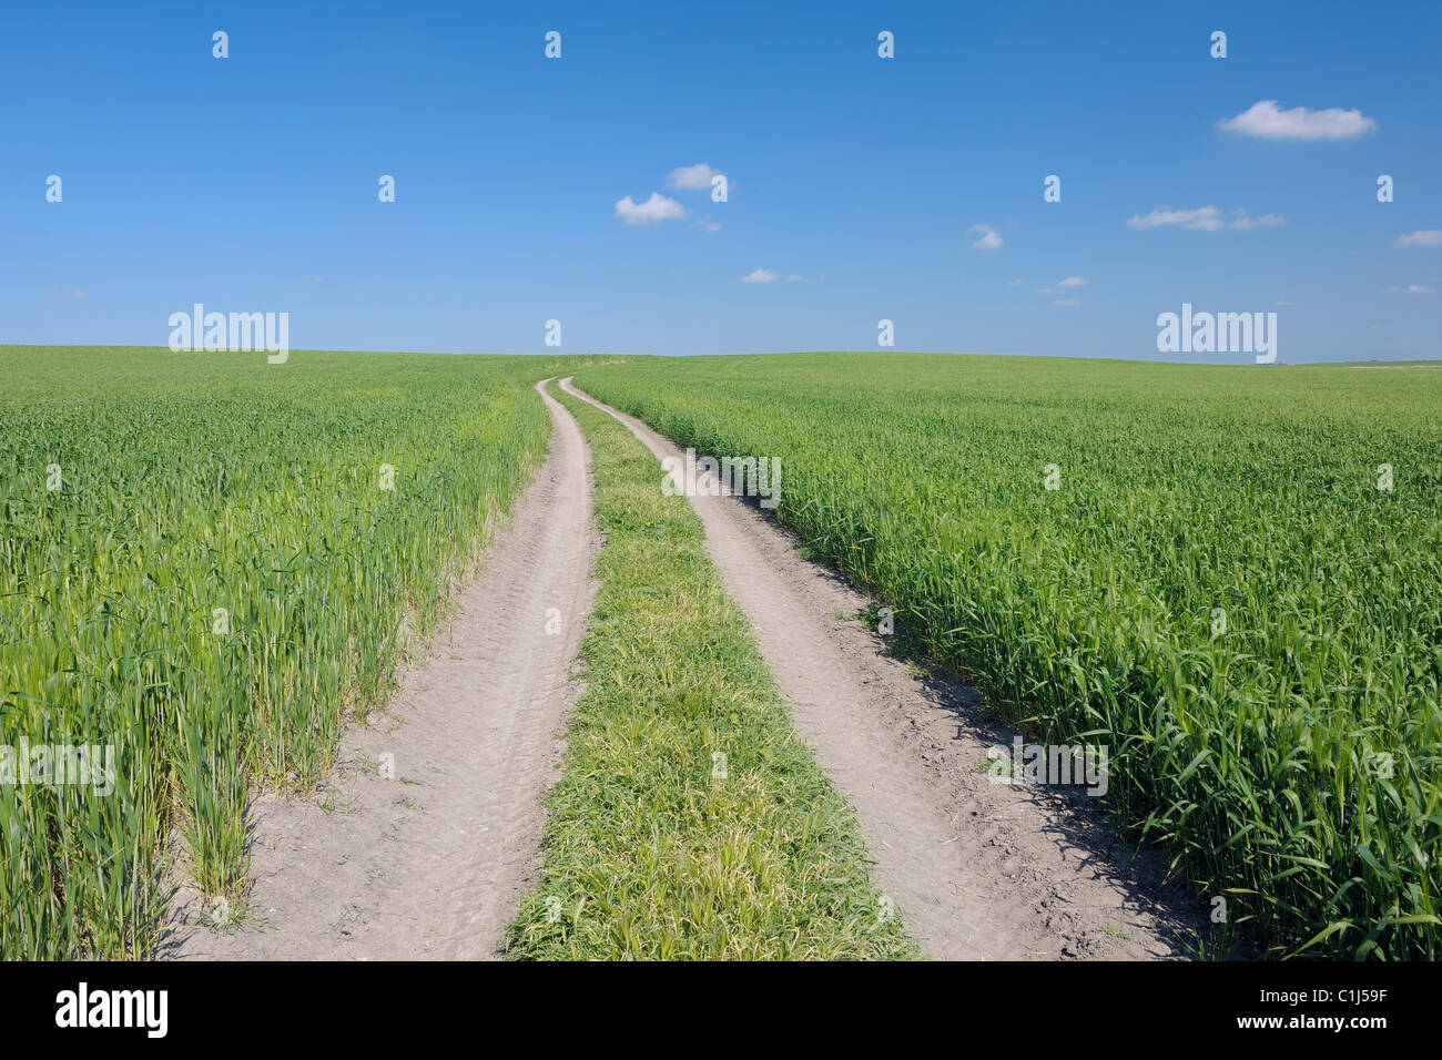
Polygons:
M0 743L114 747L110 795L0 785L0 956L147 953L176 828L239 898L248 779L388 688L545 453L542 368L0 348Z

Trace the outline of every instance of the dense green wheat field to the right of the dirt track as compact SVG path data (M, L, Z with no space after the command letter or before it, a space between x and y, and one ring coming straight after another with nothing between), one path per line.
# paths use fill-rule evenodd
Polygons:
M1354 368L805 353L575 382L779 456L779 516L1008 718L1109 744L1110 805L1229 924L1436 959L1442 375Z

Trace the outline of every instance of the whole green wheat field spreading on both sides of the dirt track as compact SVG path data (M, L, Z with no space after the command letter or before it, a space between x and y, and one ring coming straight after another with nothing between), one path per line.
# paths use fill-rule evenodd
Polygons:
M118 766L0 783L0 956L147 956L177 873L241 894L247 793L384 702L572 371L780 457L810 554L1004 720L1106 744L1106 808L1262 953L1442 956L1442 371L607 361L0 348L0 744Z

